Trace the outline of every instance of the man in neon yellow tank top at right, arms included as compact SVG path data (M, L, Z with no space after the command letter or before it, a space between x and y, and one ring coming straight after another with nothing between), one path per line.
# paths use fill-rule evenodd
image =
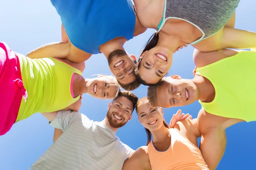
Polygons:
M148 88L148 98L151 105L164 108L199 100L200 149L209 169L216 169L226 147L225 129L237 122L256 121L256 52L195 50L194 62L193 79L163 78L159 85Z

